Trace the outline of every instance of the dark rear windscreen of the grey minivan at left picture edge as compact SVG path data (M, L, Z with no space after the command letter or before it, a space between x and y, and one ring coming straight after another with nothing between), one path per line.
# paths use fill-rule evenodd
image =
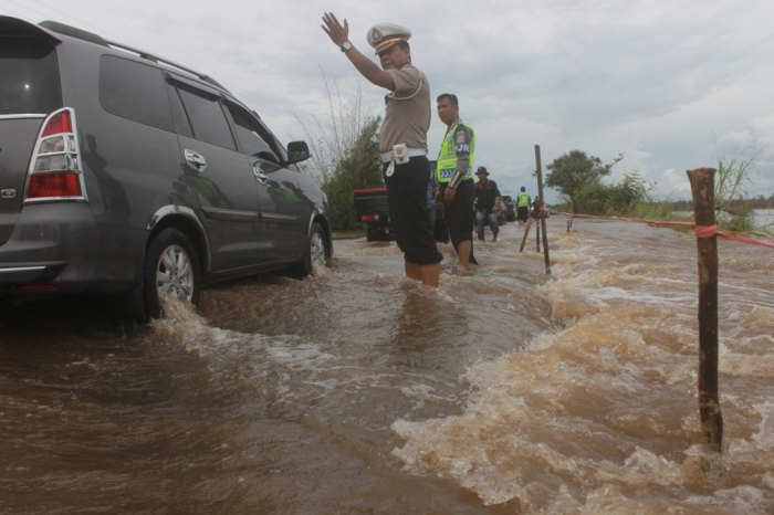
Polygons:
M48 115L60 107L54 44L28 35L0 35L0 116Z

